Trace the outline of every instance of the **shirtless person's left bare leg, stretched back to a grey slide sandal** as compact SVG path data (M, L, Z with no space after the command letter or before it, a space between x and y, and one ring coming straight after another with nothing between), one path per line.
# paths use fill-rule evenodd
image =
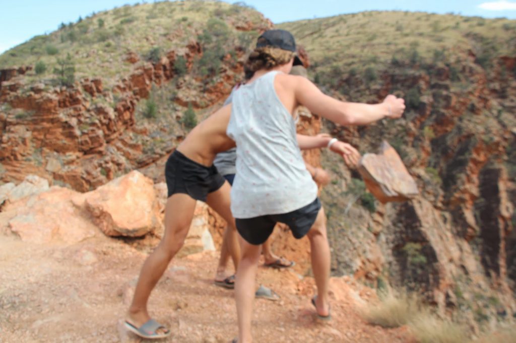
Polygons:
M140 327L150 319L147 302L151 291L167 269L170 260L181 249L190 228L196 200L186 194L174 194L165 207L165 234L159 245L143 263L136 284L133 302L127 312L127 321Z

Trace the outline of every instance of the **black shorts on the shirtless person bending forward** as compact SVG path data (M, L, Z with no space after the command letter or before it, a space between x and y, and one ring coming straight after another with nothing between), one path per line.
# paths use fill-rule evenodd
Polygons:
M225 182L214 165L206 167L190 160L178 150L172 152L167 160L165 180L168 197L184 193L201 201L206 201L208 193L217 191Z

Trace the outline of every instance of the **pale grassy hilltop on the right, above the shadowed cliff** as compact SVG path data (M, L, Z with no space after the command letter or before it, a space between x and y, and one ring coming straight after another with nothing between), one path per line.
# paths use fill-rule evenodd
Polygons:
M507 19L373 11L277 26L294 34L321 72L385 70L393 60L446 60L469 50L488 66L516 53L516 21Z

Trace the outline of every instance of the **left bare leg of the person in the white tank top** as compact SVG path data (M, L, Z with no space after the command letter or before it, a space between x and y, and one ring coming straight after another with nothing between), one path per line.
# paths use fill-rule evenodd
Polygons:
M256 269L260 260L261 246L247 243L239 237L242 259L236 271L235 299L238 316L238 343L249 343L254 300Z

